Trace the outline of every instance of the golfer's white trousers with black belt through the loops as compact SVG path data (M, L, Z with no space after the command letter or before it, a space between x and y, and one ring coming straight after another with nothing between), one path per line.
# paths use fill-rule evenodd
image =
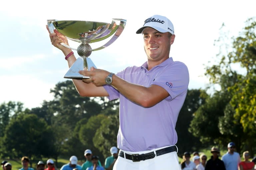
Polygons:
M169 146L166 146L169 147ZM142 151L142 152L130 152L130 151L123 151L124 155L125 153L127 154L142 154L142 153L148 153L152 152L158 149L162 149L165 147L161 148L156 148L148 151ZM156 154L156 152L155 152ZM160 156L155 156L152 159L147 159L144 161L140 162L133 162L132 160L125 159L121 156L118 156L115 165L113 167L113 170L181 170L180 164L179 164L179 159L177 153L170 152L166 153Z

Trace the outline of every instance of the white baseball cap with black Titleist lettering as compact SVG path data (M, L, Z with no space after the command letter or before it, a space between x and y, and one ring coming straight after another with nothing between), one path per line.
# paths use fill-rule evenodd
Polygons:
M141 27L136 34L141 34L146 27L151 27L160 33L171 33L174 34L174 27L172 22L161 15L153 15L144 21L143 27Z

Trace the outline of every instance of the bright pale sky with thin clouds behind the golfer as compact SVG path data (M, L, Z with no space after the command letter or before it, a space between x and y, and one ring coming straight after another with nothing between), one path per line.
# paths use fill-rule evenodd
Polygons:
M117 73L146 61L142 35L135 32L148 17L166 16L176 36L170 57L187 65L189 89L204 89L209 82L205 66L211 65L219 52L214 41L220 37L222 24L229 37L237 37L246 20L255 17L255 6L255 0L1 2L0 104L19 101L25 108L40 107L44 100L53 99L50 89L67 80L63 78L68 71L65 56L51 44L46 30L49 19L105 23L111 23L112 18L126 19L120 37L90 55L97 68ZM102 45L96 43L92 48Z

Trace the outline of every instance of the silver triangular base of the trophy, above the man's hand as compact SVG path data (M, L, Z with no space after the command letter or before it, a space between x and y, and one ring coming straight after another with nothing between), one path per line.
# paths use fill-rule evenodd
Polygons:
M80 70L90 70L91 67L96 68L92 60L88 57L79 57L69 68L68 72L64 75L64 78L71 78L82 80L83 78L90 78L90 76L83 76L78 73Z

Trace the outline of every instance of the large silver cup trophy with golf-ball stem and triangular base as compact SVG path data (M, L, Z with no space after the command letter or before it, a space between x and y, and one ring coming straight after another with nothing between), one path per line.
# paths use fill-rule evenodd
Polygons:
M77 48L70 47L65 43L61 43L67 48L77 50L80 57L69 68L64 78L82 79L90 78L78 73L80 70L90 70L93 66L96 68L92 60L89 58L92 51L103 49L112 44L123 32L126 20L112 19L111 24L92 22L92 21L58 21L47 20L48 28L51 33L56 29L60 34L67 39L80 43ZM112 38L109 38L111 37ZM104 45L92 49L89 43L99 42L109 38L110 40Z

